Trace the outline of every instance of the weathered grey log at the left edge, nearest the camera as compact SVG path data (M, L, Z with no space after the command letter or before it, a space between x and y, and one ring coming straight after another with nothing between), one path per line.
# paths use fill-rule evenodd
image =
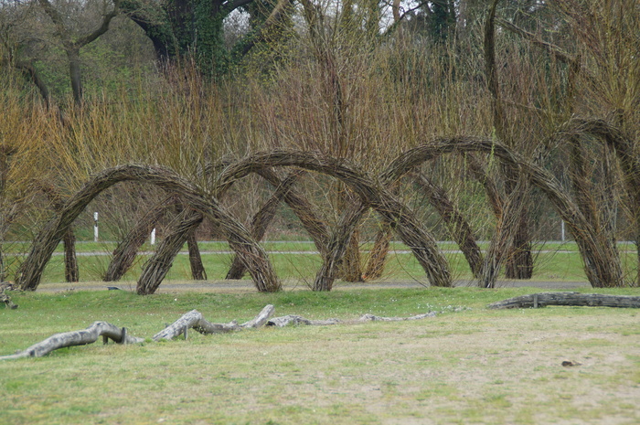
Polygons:
M51 335L42 342L31 345L26 350L11 356L0 356L0 360L10 360L23 357L42 357L54 350L66 346L92 344L103 337L106 344L108 339L112 339L116 344L139 344L144 342L143 338L127 334L126 328L120 328L107 322L94 322L87 329L81 331L65 332L63 334Z

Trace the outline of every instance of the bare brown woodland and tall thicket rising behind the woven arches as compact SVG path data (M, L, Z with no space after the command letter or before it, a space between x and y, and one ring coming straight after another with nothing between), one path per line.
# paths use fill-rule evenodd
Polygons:
M30 262L47 259L17 241L45 244L46 223L92 176L127 164L171 170L252 239L313 239L317 290L377 279L404 211L420 243L458 243L482 286L500 272L530 278L532 243L560 239L561 221L593 286L637 285L636 2L1 0L0 48L0 277L26 289L39 282L25 277ZM438 154L383 175L421 146ZM335 160L382 187L389 215L304 166L224 186L235 161L263 152ZM60 237L67 279L79 279L75 239L91 238L74 228L91 229L93 211L133 253L151 228L168 241L190 219L173 245L189 243L204 279L195 241L233 239L229 228L135 180L99 190L73 218ZM262 267L244 258L260 252L237 251L229 277ZM446 268L438 261L423 267L446 285L430 274ZM154 292L162 272L138 292Z

